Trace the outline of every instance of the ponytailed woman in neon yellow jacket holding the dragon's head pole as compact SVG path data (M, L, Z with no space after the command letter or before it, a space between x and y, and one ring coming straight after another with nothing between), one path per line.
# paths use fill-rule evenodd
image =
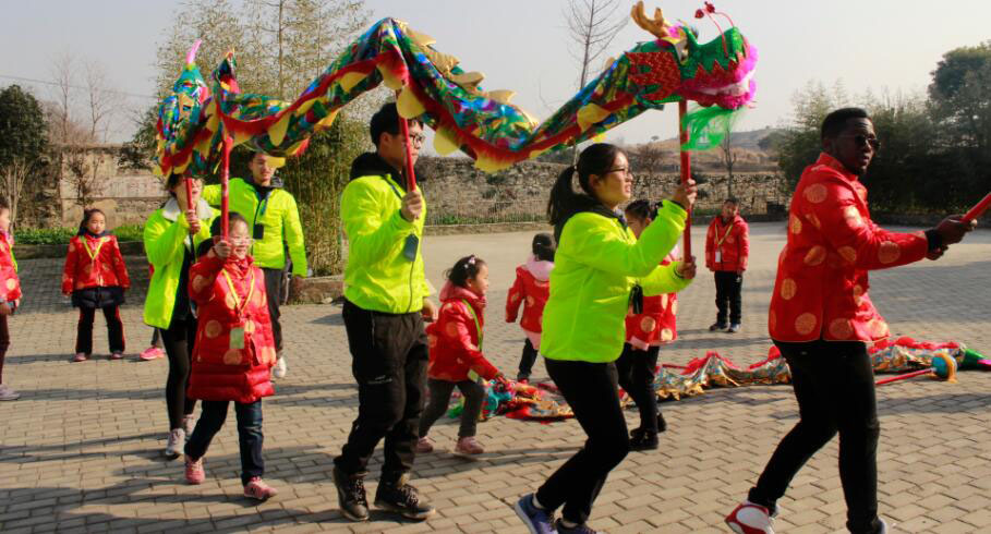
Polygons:
M581 192L571 185L575 174ZM535 494L516 503L533 533L593 532L585 526L592 502L630 447L613 364L623 352L627 310L643 295L686 288L696 274L693 258L660 266L685 229L694 182L662 204L639 241L617 211L629 202L632 182L623 150L600 143L582 150L551 191L547 213L558 248L540 352L589 439Z

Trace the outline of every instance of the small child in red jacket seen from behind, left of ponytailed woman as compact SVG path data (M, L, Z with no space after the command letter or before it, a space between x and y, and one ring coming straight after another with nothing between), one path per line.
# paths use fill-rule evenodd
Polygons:
M527 335L523 342L523 354L520 356L520 371L516 379L523 384L530 380L533 363L536 361L536 348L541 345L543 331L544 305L551 296L551 270L554 268L554 238L549 233L533 236L533 255L525 264L516 268L516 281L506 295L506 323L516 323L523 305L520 328Z

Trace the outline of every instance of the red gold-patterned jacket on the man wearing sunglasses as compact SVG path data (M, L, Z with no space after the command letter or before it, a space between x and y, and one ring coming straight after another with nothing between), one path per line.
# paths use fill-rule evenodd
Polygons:
M801 174L777 262L768 327L778 341L870 341L889 336L868 298L867 271L926 257L922 232L895 233L871 220L867 187L822 154Z

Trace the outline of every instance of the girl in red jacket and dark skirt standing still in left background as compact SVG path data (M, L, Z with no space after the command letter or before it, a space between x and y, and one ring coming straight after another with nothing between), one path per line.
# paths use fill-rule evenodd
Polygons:
M128 267L117 238L106 232L107 216L99 209L83 211L78 233L69 242L69 255L62 271L62 294L72 295L80 308L73 362L85 362L93 354L93 320L97 310L107 319L110 360L124 357L124 324L120 305L131 287Z

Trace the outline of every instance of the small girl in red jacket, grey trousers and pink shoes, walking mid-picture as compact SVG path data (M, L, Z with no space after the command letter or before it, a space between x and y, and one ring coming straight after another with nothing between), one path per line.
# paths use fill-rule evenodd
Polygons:
M434 450L426 437L431 426L447 411L450 395L457 386L464 396L461 427L456 454L481 454L485 449L475 440L475 425L482 413L485 388L478 377L506 383L506 378L482 355L482 327L485 324L485 291L488 266L482 258L467 256L447 271L447 283L440 290L440 315L426 327L431 363L427 368L430 405L420 418L416 452Z

